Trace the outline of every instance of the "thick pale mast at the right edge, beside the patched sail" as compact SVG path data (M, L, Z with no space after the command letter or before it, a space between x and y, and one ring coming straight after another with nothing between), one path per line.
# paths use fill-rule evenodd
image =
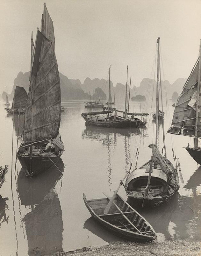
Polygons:
M200 53L199 53L194 148L198 147L198 112L199 112L199 94L200 94L200 69L201 69L201 40L200 40Z

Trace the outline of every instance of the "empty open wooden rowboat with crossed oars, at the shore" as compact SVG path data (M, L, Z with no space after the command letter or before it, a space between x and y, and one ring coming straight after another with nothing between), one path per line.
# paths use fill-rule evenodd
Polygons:
M87 200L83 194L83 199L91 216L112 234L138 242L156 239L156 233L149 222L119 194L116 194L108 214L104 214L104 209L111 200L110 197Z

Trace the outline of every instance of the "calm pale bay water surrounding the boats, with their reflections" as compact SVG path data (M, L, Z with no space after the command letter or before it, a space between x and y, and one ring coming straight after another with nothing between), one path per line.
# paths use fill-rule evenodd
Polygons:
M8 164L6 182L0 190L0 254L44 255L69 251L84 246L103 245L121 239L111 235L90 217L82 194L87 198L112 195L129 170L147 162L151 156L149 143L154 143L154 122L147 118L144 129L109 129L85 127L80 113L86 112L83 102L63 103L67 112L61 115L60 133L65 151L56 168L38 177L27 178L16 164L15 153L19 116L14 120L13 171L11 187L11 152L13 116L7 116L4 102L0 102L1 165ZM120 106L123 109L123 104ZM140 111L139 104L132 106ZM130 109L131 110L131 109ZM132 111L132 110L131 110ZM146 110L150 113L150 109ZM165 109L165 131L170 127L174 108ZM23 116L19 122L22 131ZM159 132L162 148L161 125ZM151 223L158 241L190 238L200 240L201 168L183 148L193 139L166 134L167 157L173 162L174 150L181 163L184 184L179 193L166 205L154 209L138 209ZM20 143L20 135L19 135ZM126 199L124 189L119 190Z

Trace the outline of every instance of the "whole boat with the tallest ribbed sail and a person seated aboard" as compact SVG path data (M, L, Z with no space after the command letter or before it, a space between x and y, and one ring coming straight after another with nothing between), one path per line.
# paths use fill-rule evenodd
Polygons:
M23 143L17 152L27 176L47 171L53 165L57 167L56 163L64 151L59 134L61 92L54 28L45 3L41 28L37 31L34 52L31 34L30 85Z

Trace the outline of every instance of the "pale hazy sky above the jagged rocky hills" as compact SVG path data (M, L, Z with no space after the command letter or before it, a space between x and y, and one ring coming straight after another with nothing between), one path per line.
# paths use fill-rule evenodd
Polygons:
M41 0L1 0L1 90L30 69L30 36L41 28ZM70 79L133 84L151 78L160 37L164 78L188 77L199 53L201 0L47 0L59 71Z

